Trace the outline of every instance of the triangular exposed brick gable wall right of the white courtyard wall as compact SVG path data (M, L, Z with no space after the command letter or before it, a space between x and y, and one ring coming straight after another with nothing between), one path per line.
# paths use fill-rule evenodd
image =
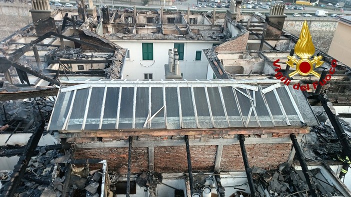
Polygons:
M246 50L248 31L233 40L226 41L217 47L215 52L241 52Z

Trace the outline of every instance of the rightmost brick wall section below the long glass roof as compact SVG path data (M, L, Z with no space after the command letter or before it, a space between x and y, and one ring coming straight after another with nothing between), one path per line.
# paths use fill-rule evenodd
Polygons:
M247 144L245 148L250 166L276 168L287 161L291 144ZM239 144L223 146L220 170L244 170Z

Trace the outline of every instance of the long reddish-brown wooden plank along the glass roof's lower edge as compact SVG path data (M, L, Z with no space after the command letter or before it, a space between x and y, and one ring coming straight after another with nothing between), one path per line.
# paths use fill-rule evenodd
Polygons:
M261 129L184 129L184 130L103 130L103 131L60 131L62 138L80 138L80 137L123 137L123 136L183 136L183 135L235 135L235 134L269 134L269 133L284 133L284 134L305 134L309 133L306 128L261 128Z

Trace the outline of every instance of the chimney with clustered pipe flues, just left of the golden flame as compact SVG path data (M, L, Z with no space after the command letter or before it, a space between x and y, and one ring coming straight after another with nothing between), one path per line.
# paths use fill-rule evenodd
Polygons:
M270 8L269 14L265 15L265 39L279 39L286 18L284 9L285 5L275 4Z

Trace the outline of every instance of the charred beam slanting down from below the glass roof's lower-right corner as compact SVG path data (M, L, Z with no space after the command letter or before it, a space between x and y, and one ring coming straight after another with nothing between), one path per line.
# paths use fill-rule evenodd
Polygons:
M297 142L295 134L290 134L290 139L292 141L293 148L295 149L298 162L300 163L302 173L304 175L304 178L306 179L306 183L307 183L307 186L308 186L308 189L310 192L310 196L311 197L318 197L317 191L316 191L314 184L313 184L312 177L310 176L310 172L308 170L307 164L304 161L304 156L301 152L301 149L300 149L300 146Z

